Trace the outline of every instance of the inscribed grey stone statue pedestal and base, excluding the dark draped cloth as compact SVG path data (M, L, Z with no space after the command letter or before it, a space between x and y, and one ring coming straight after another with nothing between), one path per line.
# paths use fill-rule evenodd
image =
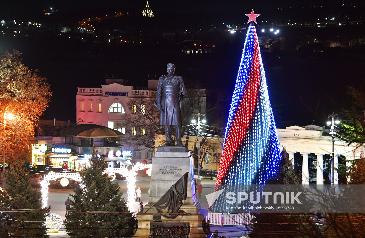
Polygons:
M167 148L166 148L167 147ZM155 157L152 159L152 173L150 185L150 199L148 204L139 212L136 217L138 229L134 237L178 237L177 234L189 234L189 237L206 237L202 222L206 210L201 209L200 202L196 200L193 156L184 151L182 147L163 146L162 150L157 149ZM160 152L164 151L164 152ZM153 206L172 185L174 185L185 174L188 174L187 198L183 200L180 210L185 211L174 219L160 217L158 211ZM155 214L155 216L153 215ZM157 214L157 216L156 216ZM167 232L167 233L165 233Z

